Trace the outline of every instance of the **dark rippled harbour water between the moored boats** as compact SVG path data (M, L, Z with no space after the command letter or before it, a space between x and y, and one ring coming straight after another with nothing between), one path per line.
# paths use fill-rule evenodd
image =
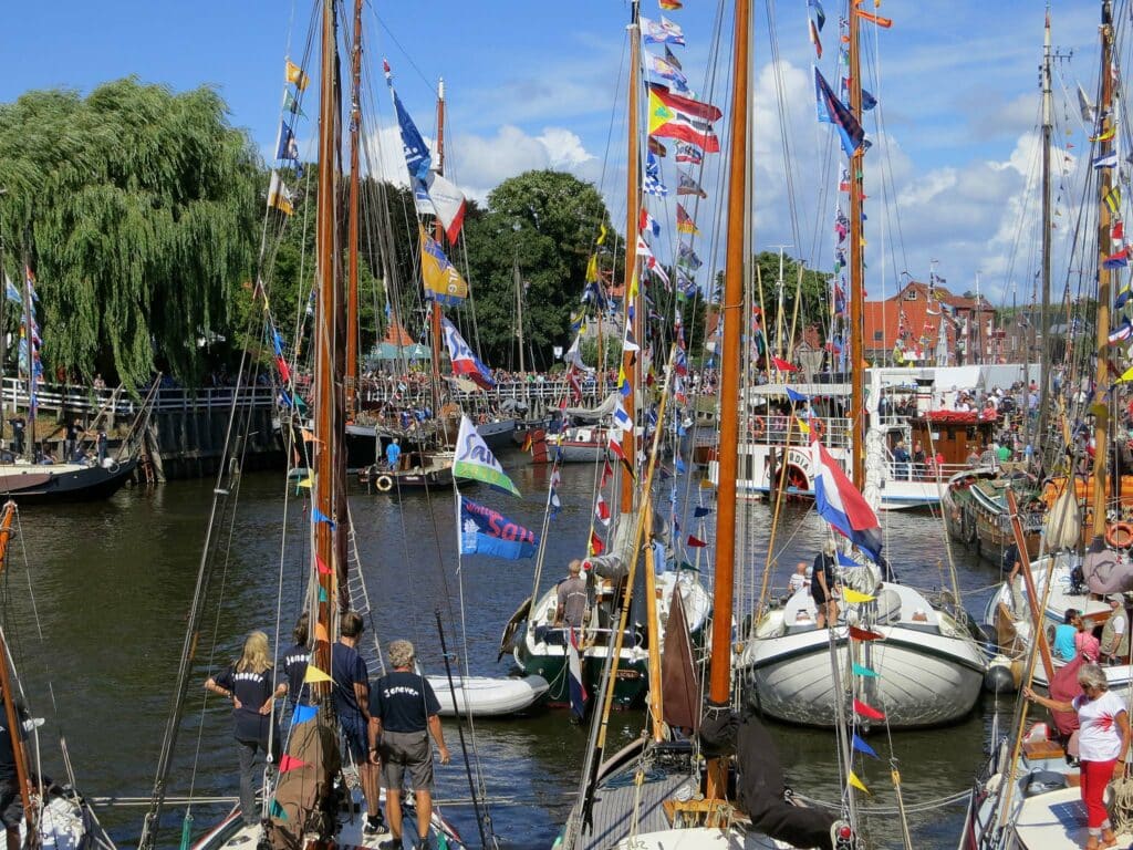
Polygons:
M538 530L546 493L546 470L504 459L523 492L516 500L487 492L467 495L504 511ZM552 526L544 587L564 572L585 545L593 504L588 467L563 471L563 510ZM699 491L683 488L681 499ZM19 518L8 570L3 576L3 623L34 713L45 716L42 737L49 743L61 732L78 782L92 797L148 798L157 762L169 699L193 596L212 482L177 482L150 493L127 491L88 505L26 509ZM255 628L276 632L276 594L282 598L281 643L287 644L304 580L306 528L303 499L288 496L281 551L284 486L276 475L249 475L240 486L239 511L219 530L229 541L206 607L189 698L169 792L173 796L235 796L236 751L228 708L216 699L204 708L203 682L210 670L227 663L244 635ZM469 668L478 674L503 674L510 660L496 663L500 632L514 609L531 592L534 562L466 559L462 566L467 634L460 634L460 600L454 552L451 494L418 495L400 503L385 496L351 494L364 572L375 606L377 632L387 641L409 638L423 663L442 669L434 612L440 611L450 647L467 646ZM795 560L813 556L820 525L812 511L784 508L776 547L782 549L778 584ZM741 594L755 593L763 569L772 509L751 513L751 538L741 575ZM902 578L919 587L938 587L946 577L943 526L930 516L891 515L887 551ZM685 533L688 529L685 529ZM707 551L707 550L706 550ZM973 554L956 552L956 569L970 611L978 611L997 570ZM942 564L944 567L942 568ZM282 577L282 590L280 590ZM28 588L34 588L34 605ZM1010 709L1010 703L1002 706ZM870 742L880 760L860 771L874 792L862 801L871 808L895 804L889 759L900 767L906 805L935 800L966 789L983 760L995 703L983 704L968 721L944 730L894 736ZM640 713L615 715L610 749L638 734ZM834 738L829 732L774 729L789 781L801 793L836 799L838 780ZM468 781L459 739L452 725L446 739L453 766L440 768L442 799L467 799ZM492 815L501 843L510 848L547 848L573 801L583 759L586 730L571 725L564 713L544 712L528 719L479 722L469 740L484 768L494 802ZM58 748L44 747L44 771L61 775ZM224 806L197 806L195 824L203 828ZM100 809L113 838L136 842L144 807L116 805ZM448 815L470 845L478 845L476 821L467 805ZM184 808L167 810L162 847L176 845ZM954 848L963 807L915 814L910 818L917 848ZM892 815L868 817L875 847L900 847Z

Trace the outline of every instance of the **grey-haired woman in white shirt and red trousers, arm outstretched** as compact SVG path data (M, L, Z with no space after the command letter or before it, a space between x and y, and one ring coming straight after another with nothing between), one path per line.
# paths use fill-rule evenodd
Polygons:
M1077 671L1077 683L1083 694L1072 702L1040 697L1030 688L1023 688L1023 696L1055 712L1077 713L1082 802L1090 830L1085 850L1100 850L1117 843L1102 798L1114 768L1117 764L1124 768L1130 748L1130 717L1125 702L1109 692L1106 673L1097 664L1083 664Z

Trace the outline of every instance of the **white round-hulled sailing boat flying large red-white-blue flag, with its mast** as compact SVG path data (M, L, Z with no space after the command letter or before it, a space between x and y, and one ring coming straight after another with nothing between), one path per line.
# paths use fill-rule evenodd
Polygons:
M847 24L850 109L837 101L816 68L824 108L838 114L843 148L850 156L850 342L851 363L862 362L863 244L862 178L864 133L861 129L862 90L858 36L860 19L874 19L851 3ZM832 118L833 120L833 118ZM964 623L935 607L918 590L881 581L875 563L880 558L880 527L872 507L861 495L879 496L876 453L884 439L876 428L866 433L864 369L851 369L850 468L841 466L811 435L811 467L816 476L818 512L843 537L868 558L840 555L846 587L846 611L834 626L835 634L818 626L808 588L795 593L784 606L758 611L738 666L748 678L755 702L778 720L819 726L841 726L850 699L869 708L863 715L885 720L889 728L929 726L963 717L976 705L986 663L979 645ZM867 479L866 454L871 476ZM816 567L817 569L817 567ZM817 577L815 577L817 580ZM830 666L845 671L832 675ZM851 674L852 673L852 674ZM843 687L845 682L845 689ZM881 709L872 708L881 706Z

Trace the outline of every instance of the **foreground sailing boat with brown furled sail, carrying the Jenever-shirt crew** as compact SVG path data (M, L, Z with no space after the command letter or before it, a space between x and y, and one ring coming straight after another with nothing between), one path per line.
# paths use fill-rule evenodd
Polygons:
M367 817L376 815L367 808L360 788L350 788L340 776L342 758L339 751L339 722L332 695L332 644L343 613L352 605L350 583L349 535L351 518L346 490L346 440L343 360L346 350L346 304L340 263L340 240L337 232L339 206L339 127L341 109L338 99L338 18L333 0L318 0L320 35L320 121L318 121L318 197L316 211L316 332L314 334L314 433L308 441L313 453L305 609L310 617L314 646L305 682L310 689L309 706L299 705L286 736L286 750L279 762L278 781L265 783L262 804L263 823L248 825L238 809L211 828L195 847L220 850L223 847L257 845L266 840L273 847L315 848L335 845L373 847L382 838L364 832ZM359 78L361 61L363 0L353 5L353 78ZM290 70L290 69L289 69ZM300 69L296 76L303 78ZM356 99L357 103L357 99ZM220 486L214 491L214 518L223 507L219 501L228 494ZM140 847L156 845L167 780L180 724L180 709L193 672L193 656L198 638L204 596L207 593L212 535L210 525L205 551L197 578L197 593L188 618L181 665L173 695L173 711L167 723L165 740L159 760L150 813ZM415 814L404 814L403 839L415 833L410 826ZM462 843L434 808L431 838L438 836L448 847ZM188 844L191 818L186 818L182 843ZM408 844L407 844L408 848Z

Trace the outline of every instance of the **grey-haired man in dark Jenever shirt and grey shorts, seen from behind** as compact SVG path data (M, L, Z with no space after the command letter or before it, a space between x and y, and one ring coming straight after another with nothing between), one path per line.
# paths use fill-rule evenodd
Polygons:
M390 840L382 850L401 848L401 785L409 771L417 800L417 841L429 848L429 822L433 819L433 734L441 751L441 764L451 756L441 730L441 704L428 681L414 672L414 645L408 640L390 644L387 673L374 685L373 714L381 734L382 788L390 811Z

